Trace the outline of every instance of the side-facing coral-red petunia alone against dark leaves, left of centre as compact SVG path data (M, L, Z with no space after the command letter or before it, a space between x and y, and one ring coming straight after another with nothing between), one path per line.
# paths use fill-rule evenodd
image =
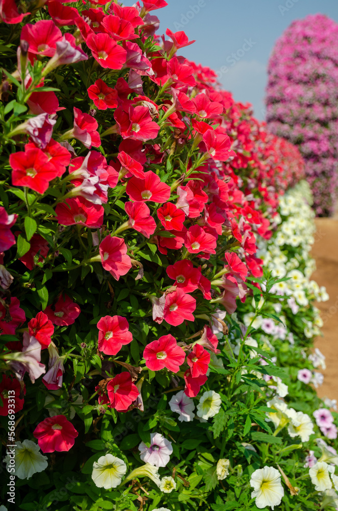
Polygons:
M100 243L100 255L102 266L109 271L118 281L121 275L125 275L131 268L131 260L127 255L127 246L123 238L106 236Z

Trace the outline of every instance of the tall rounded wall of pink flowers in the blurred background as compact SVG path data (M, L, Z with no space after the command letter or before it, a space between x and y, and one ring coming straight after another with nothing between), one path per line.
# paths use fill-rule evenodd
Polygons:
M337 37L338 25L325 15L293 21L268 65L269 130L299 147L319 216L332 215L336 201Z

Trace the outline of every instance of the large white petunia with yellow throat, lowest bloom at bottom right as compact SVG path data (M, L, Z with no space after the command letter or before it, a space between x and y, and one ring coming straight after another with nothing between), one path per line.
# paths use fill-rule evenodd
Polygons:
M250 485L254 491L251 498L255 498L255 504L259 509L269 506L272 509L281 503L284 489L280 481L280 473L273 467L265 466L253 472Z

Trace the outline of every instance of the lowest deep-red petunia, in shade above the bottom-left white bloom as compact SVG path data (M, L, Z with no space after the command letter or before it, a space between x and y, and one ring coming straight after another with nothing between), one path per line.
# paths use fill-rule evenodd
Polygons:
M47 417L33 431L42 452L69 451L78 434L64 415Z

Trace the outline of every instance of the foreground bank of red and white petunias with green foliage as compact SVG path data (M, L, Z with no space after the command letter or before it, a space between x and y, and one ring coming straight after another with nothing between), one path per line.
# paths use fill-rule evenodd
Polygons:
M1 511L338 499L303 160L165 5L2 4Z

